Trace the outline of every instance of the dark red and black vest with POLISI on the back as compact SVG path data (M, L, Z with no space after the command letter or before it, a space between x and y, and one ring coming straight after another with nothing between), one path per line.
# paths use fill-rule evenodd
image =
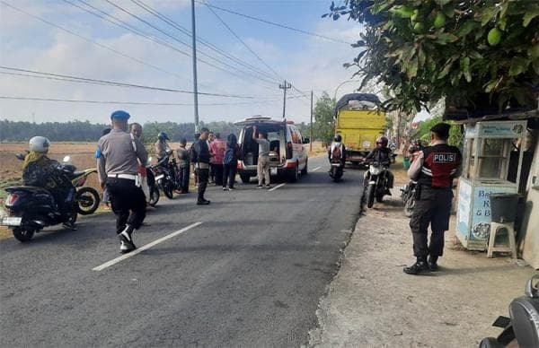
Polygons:
M437 144L424 148L423 154L418 182L430 187L451 187L462 161L460 150L455 146Z

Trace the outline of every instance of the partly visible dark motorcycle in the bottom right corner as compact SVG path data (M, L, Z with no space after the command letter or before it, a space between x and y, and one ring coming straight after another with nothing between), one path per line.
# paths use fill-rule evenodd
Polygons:
M539 347L539 274L527 283L525 295L509 304L509 317L499 317L492 326L503 331L497 338L483 338L480 348Z

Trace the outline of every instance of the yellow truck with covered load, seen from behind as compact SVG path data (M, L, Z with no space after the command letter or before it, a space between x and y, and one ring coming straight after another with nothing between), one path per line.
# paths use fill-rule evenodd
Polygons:
M384 135L385 112L379 104L378 97L369 93L346 94L337 102L335 133L346 146L346 161L362 164L375 148L376 138Z

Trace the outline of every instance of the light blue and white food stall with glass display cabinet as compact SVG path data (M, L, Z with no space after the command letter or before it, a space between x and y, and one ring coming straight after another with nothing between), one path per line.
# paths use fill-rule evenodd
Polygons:
M458 191L456 236L464 248L485 250L490 234L490 194L517 194L523 152L510 154L526 139L526 121L481 121L466 125L463 173ZM509 165L517 182L508 181Z

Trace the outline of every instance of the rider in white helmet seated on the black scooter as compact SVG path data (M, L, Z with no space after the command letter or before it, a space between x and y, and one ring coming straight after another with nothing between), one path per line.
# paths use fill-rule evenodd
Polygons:
M43 187L54 197L59 212L66 220L75 211L73 184L62 174L62 165L47 157L49 139L34 136L30 139L28 154L22 165L22 180L26 186ZM72 222L65 222L67 228L74 229Z

